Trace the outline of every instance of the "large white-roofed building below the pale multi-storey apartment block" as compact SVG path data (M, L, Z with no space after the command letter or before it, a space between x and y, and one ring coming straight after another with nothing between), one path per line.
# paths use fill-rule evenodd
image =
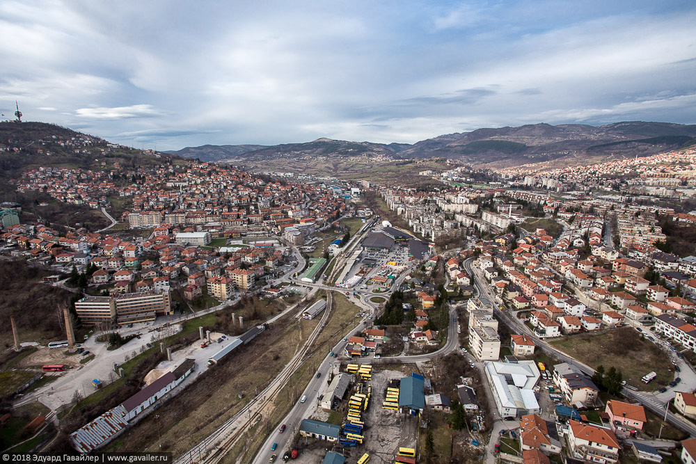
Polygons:
M533 388L541 374L534 361L489 361L484 367L501 417L539 413Z

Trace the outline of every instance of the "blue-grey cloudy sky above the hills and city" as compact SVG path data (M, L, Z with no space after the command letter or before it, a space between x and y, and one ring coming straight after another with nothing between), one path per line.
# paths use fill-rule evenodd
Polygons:
M696 122L696 2L0 0L0 109L136 147Z

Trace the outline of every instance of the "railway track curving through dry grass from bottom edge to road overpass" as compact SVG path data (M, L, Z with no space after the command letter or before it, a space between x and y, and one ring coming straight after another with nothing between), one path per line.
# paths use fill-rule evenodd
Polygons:
M198 445L196 445L196 447L193 447L193 449L191 449L187 454L180 456L180 458L175 461L175 464L193 463L196 462L196 457L198 457L199 463L217 464L233 447L235 447L235 445L237 445L239 438L242 438L242 436L244 436L246 431L253 426L253 424L262 419L264 409L276 400L280 391L283 390L283 387L285 387L287 381L290 380L290 377L292 377L297 369L299 369L306 358L311 355L311 353L308 353L310 347L317 340L319 334L322 333L322 329L324 326L326 326L326 322L329 321L331 304L332 292L329 291L328 295L326 296L326 310L324 311L324 315L319 321L319 324L317 324L307 341L293 356L292 360L290 360L290 362L283 367L283 370L280 371L280 374L276 376L275 380L271 382L271 384L266 387L266 389L263 390L255 400L251 401L246 408L244 408L244 410L237 413L235 417L228 420L228 422L219 427L219 429L209 435L209 437L203 440L203 442L200 442ZM315 351L312 351L312 353L314 352ZM247 419L241 425L233 428L235 422L244 417L244 415L248 415ZM219 438L226 433L231 434L227 438L224 438L219 445L216 445L217 440L219 440ZM203 456L209 451L209 447L214 447L212 453L208 456Z

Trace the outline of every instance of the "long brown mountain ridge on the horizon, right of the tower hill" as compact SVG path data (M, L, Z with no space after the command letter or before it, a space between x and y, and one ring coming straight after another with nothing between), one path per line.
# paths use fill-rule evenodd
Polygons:
M577 163L592 157L649 156L696 143L696 125L627 121L602 126L539 123L520 127L483 128L445 134L413 145L336 141L319 138L307 143L203 145L173 151L201 161L258 163L302 157L443 157L472 165L516 165L539 161Z

